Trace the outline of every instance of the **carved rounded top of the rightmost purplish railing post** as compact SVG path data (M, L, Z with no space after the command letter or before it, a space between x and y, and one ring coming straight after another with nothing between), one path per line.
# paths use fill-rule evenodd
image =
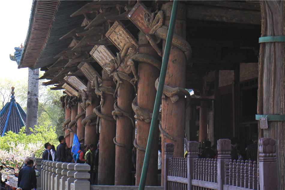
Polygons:
M276 161L276 140L261 138L258 141L259 161Z

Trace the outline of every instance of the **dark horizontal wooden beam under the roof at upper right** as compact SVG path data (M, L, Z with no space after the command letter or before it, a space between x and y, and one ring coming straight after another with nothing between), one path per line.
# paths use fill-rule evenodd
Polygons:
M187 4L186 17L194 20L261 25L261 14L257 10Z

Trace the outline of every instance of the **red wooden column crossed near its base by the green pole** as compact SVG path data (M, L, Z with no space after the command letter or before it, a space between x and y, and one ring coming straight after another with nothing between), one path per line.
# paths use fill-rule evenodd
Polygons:
M152 46L148 43L146 36L140 32L139 34L139 53L145 53L152 56L156 56L161 59ZM153 65L140 62L138 64L138 106L153 112L155 104L155 80L159 77L160 71ZM149 129L151 122L145 122L144 120L137 120L137 145L146 149ZM145 151L137 149L137 176L136 185L140 185L140 177L143 169L143 160L145 157ZM155 141L152 147L152 153L150 157L149 169L147 173L146 185L157 185L158 175L158 127L155 135Z

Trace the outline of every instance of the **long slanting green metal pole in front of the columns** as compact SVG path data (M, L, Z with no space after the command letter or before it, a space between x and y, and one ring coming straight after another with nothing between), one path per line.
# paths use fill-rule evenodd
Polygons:
M165 81L165 76L166 76L166 71L167 71L167 65L168 65L168 60L169 60L169 54L170 54L170 49L171 49L171 44L172 44L172 38L173 38L173 33L174 33L174 27L175 27L178 7L179 7L179 1L174 0L171 17L170 17L169 29L167 33L165 49L164 49L164 55L162 59L162 66L161 66L161 73L159 77L158 89L157 89L157 93L155 97L155 106L154 106L153 114L152 114L152 122L150 124L150 129L149 129L149 138L148 138L148 142L146 145L146 154L145 154L145 159L143 161L143 170L142 170L142 175L140 178L139 190L144 190L145 185L146 185L146 176L147 176L147 172L149 169L149 159L150 159L150 155L152 152L152 143L153 143L153 139L155 136L155 128L157 125L159 107L161 103L161 96L162 96L162 91L164 87L164 81Z

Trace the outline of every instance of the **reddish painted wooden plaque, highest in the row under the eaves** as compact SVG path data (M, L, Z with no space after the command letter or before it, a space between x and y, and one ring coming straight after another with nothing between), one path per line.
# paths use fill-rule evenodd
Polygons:
M137 4L132 8L130 13L128 14L128 18L140 29L144 34L148 34L151 28L146 27L144 23L143 16L145 13L152 15L145 5L141 2L137 2Z

